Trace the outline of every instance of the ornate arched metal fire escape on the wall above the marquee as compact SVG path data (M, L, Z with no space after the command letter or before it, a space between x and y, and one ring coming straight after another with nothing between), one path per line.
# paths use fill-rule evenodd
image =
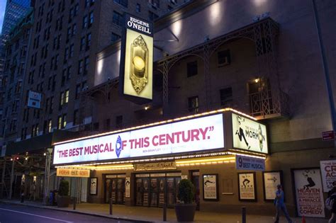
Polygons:
M169 88L168 74L170 69L180 59L188 56L201 57L204 62L206 91L206 110L216 107L211 101L211 75L209 59L211 55L229 40L247 38L255 45L257 66L259 70L259 87L257 91L249 92L250 114L257 119L281 118L289 116L289 97L281 90L276 64L276 35L279 25L271 18L264 18L243 28L208 40L175 55L165 57L157 63L157 68L163 76L163 109L168 106Z

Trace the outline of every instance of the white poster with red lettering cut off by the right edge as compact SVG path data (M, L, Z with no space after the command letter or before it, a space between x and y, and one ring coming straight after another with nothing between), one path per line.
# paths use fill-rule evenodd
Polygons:
M323 192L332 189L332 182L336 181L336 160L320 161Z

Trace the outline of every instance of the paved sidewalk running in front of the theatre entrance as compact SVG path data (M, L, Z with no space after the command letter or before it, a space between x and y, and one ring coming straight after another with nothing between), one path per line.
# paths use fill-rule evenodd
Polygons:
M162 208L155 207L136 207L113 205L113 215L109 214L109 205L107 204L89 204L82 203L77 205L76 210L73 206L57 207L57 206L44 206L41 202L25 201L20 203L19 200L0 200L3 203L13 205L27 205L30 207L47 208L51 210L76 212L85 215L95 215L99 217L109 217L113 219L123 219L129 221L140 222L162 222ZM195 222L228 222L228 223L241 223L242 217L240 215L220 214L215 212L196 212ZM177 222L174 209L167 209L167 221ZM296 223L301 223L302 219L299 217L293 218ZM247 215L248 223L272 223L274 218L272 216L261 215ZM284 217L281 217L280 222L287 222ZM326 219L321 218L306 218L306 223L325 223Z

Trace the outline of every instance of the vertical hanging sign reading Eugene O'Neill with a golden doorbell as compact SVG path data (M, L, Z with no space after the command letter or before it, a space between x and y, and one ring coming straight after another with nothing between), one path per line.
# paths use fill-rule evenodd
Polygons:
M120 89L135 103L152 100L153 23L125 14Z

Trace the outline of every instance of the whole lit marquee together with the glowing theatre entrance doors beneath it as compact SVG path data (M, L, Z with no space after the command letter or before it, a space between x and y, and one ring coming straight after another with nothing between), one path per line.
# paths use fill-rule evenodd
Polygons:
M203 202L221 202L230 193L222 173L237 174L237 155L264 168L268 154L266 126L230 108L59 142L54 148L57 170L91 171L96 189L85 190L89 202L111 198L116 204L162 207L167 202L173 207L179 181L190 178L202 209ZM226 182L231 189L233 182Z

